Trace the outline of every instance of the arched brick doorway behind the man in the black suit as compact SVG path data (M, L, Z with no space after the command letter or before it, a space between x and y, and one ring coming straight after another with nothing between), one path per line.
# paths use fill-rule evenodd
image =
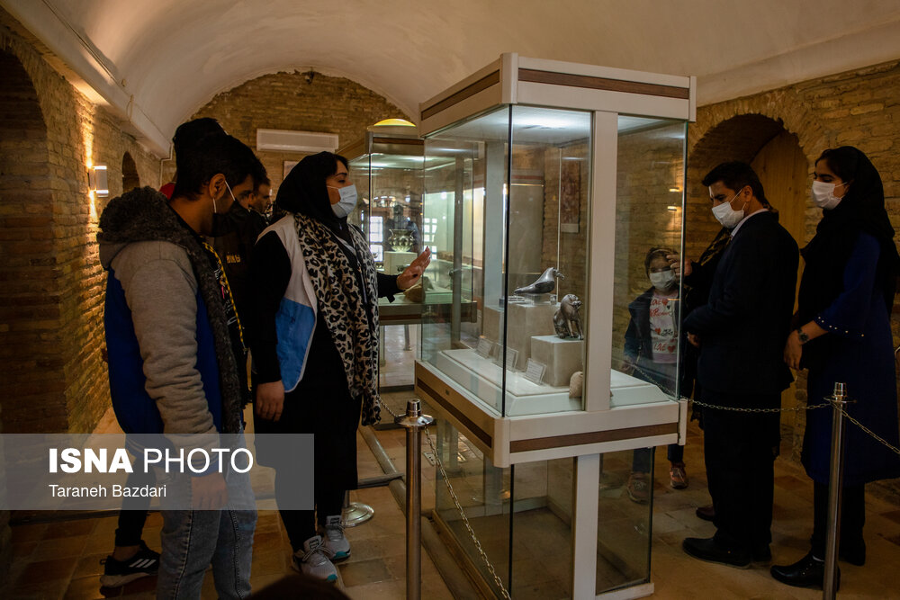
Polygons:
M760 176L767 199L779 211L779 222L798 246L804 246L809 164L799 139L780 121L744 114L707 130L689 151L686 255L698 257L720 228L710 210L707 189L700 182L710 169L728 160L750 163ZM784 407L797 404L796 382L784 391L781 400ZM783 413L781 423L794 428L796 419L794 412Z

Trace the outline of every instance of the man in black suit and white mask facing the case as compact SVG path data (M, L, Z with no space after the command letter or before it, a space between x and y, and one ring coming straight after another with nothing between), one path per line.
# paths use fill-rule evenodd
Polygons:
M732 241L716 266L707 304L684 321L690 343L700 348L702 399L716 407L779 408L792 380L782 353L794 309L797 243L766 210L751 166L723 163L703 184ZM703 418L716 535L687 538L682 548L700 560L742 568L770 560L779 413L704 407Z

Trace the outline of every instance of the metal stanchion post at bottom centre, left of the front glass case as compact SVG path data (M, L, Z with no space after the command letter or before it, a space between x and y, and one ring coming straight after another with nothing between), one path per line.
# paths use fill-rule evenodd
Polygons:
M419 600L422 593L422 429L435 419L422 414L419 400L406 403L406 415L394 423L406 427L406 597Z

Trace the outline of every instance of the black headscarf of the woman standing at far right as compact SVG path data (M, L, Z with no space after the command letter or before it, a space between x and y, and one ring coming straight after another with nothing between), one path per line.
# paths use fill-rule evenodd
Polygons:
M825 150L816 163L822 160L849 187L840 204L823 210L815 237L801 251L806 266L800 281L799 322L812 320L841 294L844 268L860 233L875 237L881 246L875 282L890 312L900 255L885 210L881 176L869 157L852 146Z

